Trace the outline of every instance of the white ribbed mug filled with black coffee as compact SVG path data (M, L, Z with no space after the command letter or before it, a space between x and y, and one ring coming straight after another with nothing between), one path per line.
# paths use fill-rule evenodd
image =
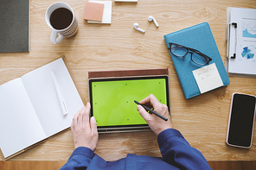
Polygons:
M71 16L71 13L67 11L67 9L72 13L72 16ZM67 14L67 17L61 14L60 11L66 12L65 14ZM54 15L52 16L53 12L54 12ZM61 20L60 20L60 17L61 17ZM55 20L55 23L54 23L53 18L59 18L59 19ZM59 2L59 3L51 4L46 10L45 20L49 28L52 29L50 40L54 42L54 44L59 44L64 37L71 37L76 35L78 31L78 21L74 16L73 9L67 3ZM60 22L60 21L64 21L64 22ZM68 24L69 22L70 24ZM59 25L57 23L59 23ZM65 24L60 25L60 23L61 24L66 23L66 25Z

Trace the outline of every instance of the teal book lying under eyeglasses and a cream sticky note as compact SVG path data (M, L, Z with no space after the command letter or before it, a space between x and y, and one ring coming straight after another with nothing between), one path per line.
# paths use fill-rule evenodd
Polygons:
M171 42L180 44L184 47L194 48L202 54L208 55L208 57L212 59L208 65L213 63L215 64L223 82L222 86L230 84L225 66L221 60L221 54L219 53L218 47L214 41L214 36L208 22L202 22L195 26L170 33L169 35L164 35L163 37L167 47L170 47L169 42ZM193 71L203 66L193 63L190 55L191 54L187 54L181 59L170 53L170 57L175 66L176 73L180 80L180 84L182 85L182 91L186 99L202 94L202 91L200 91L195 80Z

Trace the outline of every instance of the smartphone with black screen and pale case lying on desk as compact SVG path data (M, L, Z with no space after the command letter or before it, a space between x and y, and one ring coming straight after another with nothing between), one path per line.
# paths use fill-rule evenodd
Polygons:
M227 145L240 148L252 146L255 105L255 96L241 93L232 95L227 126Z

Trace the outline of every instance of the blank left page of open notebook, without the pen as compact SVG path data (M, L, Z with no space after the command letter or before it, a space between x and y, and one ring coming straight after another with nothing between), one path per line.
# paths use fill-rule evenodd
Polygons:
M0 148L4 158L46 138L21 79L0 86Z

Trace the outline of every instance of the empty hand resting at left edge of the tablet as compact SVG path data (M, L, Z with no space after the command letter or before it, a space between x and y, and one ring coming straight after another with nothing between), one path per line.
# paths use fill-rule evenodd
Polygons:
M86 147L93 151L98 143L98 130L95 118L89 118L91 104L87 103L77 114L74 115L71 130L74 138L74 148Z

